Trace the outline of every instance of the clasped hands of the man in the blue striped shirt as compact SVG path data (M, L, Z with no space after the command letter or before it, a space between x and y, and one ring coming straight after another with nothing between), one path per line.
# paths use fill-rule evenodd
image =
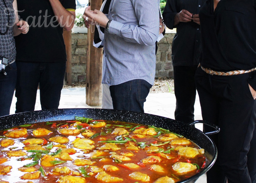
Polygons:
M85 27L89 28L90 25L99 25L106 28L109 21L107 16L97 9L95 9L94 11L90 9L90 6L85 8L85 12L83 14Z

